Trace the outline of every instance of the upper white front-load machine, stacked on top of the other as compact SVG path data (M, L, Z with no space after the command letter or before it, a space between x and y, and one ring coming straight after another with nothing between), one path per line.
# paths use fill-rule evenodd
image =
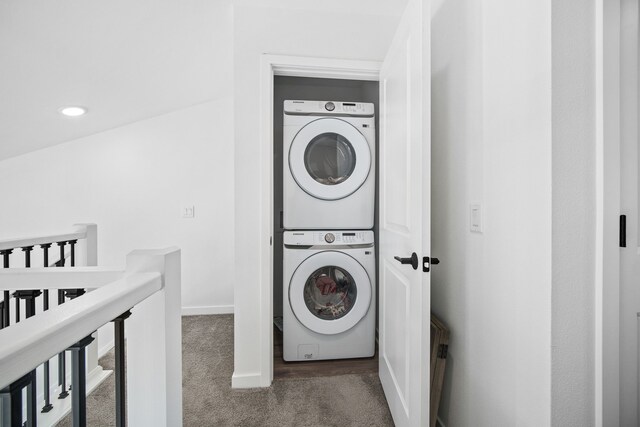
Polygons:
M284 228L373 228L373 104L284 101L283 126Z

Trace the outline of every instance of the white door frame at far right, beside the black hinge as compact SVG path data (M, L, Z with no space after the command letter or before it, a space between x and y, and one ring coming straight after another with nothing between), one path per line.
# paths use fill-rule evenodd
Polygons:
M620 416L620 2L596 0L595 422Z

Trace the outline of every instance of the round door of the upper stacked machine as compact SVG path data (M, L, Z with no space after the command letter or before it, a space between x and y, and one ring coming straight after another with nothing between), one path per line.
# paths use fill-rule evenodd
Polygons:
M367 179L371 150L364 135L350 123L318 119L293 138L289 169L309 195L322 200L343 199Z

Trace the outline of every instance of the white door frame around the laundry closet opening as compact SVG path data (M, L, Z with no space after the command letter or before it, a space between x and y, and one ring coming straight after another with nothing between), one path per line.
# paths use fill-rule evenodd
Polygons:
M382 63L264 54L260 59L260 383L273 381L273 78L378 81Z

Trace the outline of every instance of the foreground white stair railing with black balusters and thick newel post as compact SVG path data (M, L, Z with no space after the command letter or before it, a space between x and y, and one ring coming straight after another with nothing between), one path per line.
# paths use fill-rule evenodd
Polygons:
M66 242L76 240L67 237ZM90 258L89 254L89 262ZM0 330L2 426L22 426L25 406L27 426L53 424L47 424L46 414L36 415L34 410L35 367L65 351L72 356L73 425L86 425L87 346L93 341L92 334L111 321L116 324L116 425L182 425L178 249L134 251L127 256L124 271L30 266L0 270L0 291L13 290L19 300L21 292L34 289L73 296ZM84 293L85 289L89 292ZM27 388L26 405L21 400L23 388Z

